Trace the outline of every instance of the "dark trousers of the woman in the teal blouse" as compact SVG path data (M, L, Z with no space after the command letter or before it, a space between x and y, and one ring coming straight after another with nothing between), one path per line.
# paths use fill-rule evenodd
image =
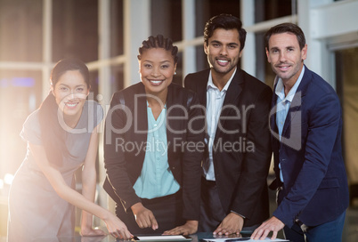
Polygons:
M151 210L154 214L159 225L158 230L139 228L138 224L135 222L132 210L128 209L128 213L126 213L121 204L116 205L116 214L118 218L126 223L128 230L135 235L162 234L164 231L174 229L176 226L183 225L186 222L183 219L183 199L181 191L161 198L142 198L142 205Z

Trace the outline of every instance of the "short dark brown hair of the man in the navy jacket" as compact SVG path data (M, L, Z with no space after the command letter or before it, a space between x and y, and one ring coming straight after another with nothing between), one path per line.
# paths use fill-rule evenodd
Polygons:
M276 34L282 33L292 33L297 36L297 41L299 44L299 48L302 50L305 47L305 34L301 28L299 28L294 23L281 23L279 25L273 26L264 34L264 47L268 50L269 49L269 40L270 37Z

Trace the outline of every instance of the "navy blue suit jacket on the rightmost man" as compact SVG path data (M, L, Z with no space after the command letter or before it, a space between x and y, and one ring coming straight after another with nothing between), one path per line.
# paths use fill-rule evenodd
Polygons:
M270 125L276 180L281 164L285 198L273 213L291 227L298 219L307 226L329 222L348 206L348 187L342 158L342 112L338 96L320 76L305 67L305 74L291 103L277 139L275 105ZM271 187L271 186L270 186Z

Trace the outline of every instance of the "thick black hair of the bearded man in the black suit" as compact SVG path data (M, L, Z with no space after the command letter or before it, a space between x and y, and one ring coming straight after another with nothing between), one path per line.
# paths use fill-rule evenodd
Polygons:
M237 29L239 32L240 51L242 51L245 46L246 30L242 28L242 22L239 18L231 14L222 13L208 20L204 28L204 41L206 44L208 44L208 39L213 36L216 28Z

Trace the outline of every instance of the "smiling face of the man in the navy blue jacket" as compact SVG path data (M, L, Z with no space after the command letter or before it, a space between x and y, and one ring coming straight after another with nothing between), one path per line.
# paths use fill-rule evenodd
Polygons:
M307 44L301 50L296 35L281 33L271 36L268 46L266 55L273 71L284 84L294 85L304 66Z

